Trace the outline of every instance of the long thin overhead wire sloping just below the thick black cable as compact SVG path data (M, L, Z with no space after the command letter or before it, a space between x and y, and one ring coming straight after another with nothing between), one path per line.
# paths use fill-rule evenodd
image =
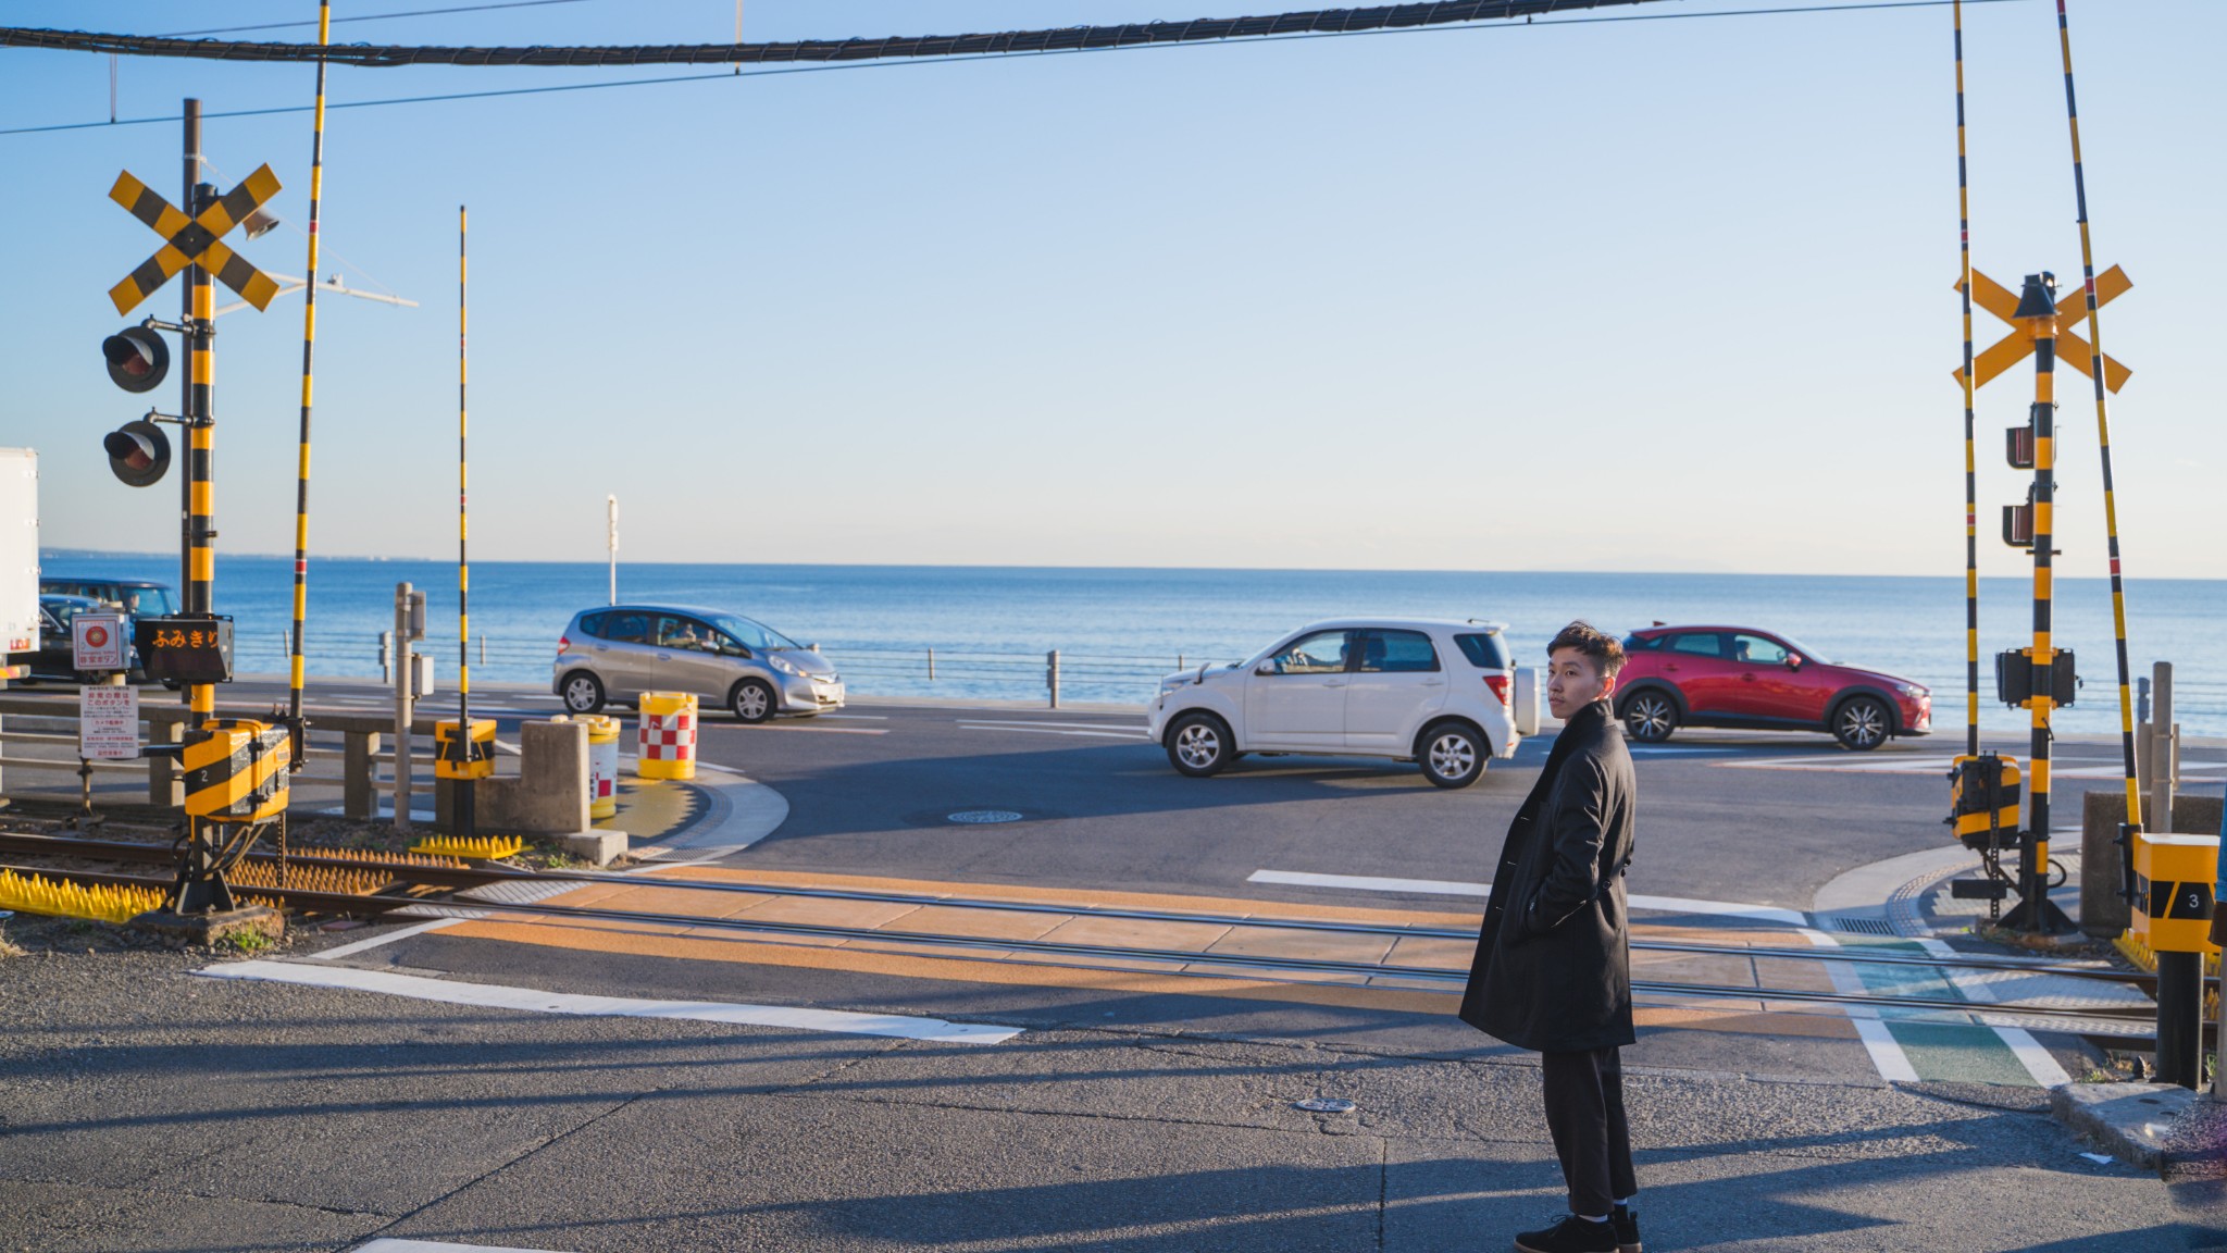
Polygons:
M1107 47L1076 47L1076 49L1049 49L1049 51L991 51L991 54L964 54L964 56L915 56L904 60L842 60L824 65L788 65L782 69L753 69L753 71L722 71L722 74L666 74L657 78L621 78L612 82L559 82L550 87L506 87L492 91L439 91L428 96L390 96L381 100L339 100L327 105L327 109L379 109L390 105L439 105L450 100L492 100L503 96L548 96L559 91L604 91L617 87L661 87L673 82L710 82L710 80L733 80L733 78L771 78L784 74L828 74L837 69L895 69L909 65L955 65L973 60L1022 60L1038 56L1076 56L1087 51L1149 51L1149 49L1185 49L1185 47L1234 47L1238 42L1247 45L1281 45L1298 40L1323 40L1323 38L1358 38L1358 36L1421 36L1421 33L1452 33L1452 31L1510 31L1510 29L1548 29L1548 27L1592 27L1608 22L1672 22L1672 20L1706 20L1706 18L1782 18L1782 16L1808 16L1808 13L1862 13L1882 9L1944 9L1958 0L1866 0L1860 4L1786 4L1773 9L1710 9L1699 13L1617 13L1603 18L1554 18L1548 22L1523 20L1523 22L1472 22L1472 25L1434 25L1434 27L1387 27L1387 29L1363 29L1363 31L1305 31L1285 36L1258 36L1245 40L1191 40L1191 42L1136 42L1136 45L1107 45ZM2038 0L1962 0L1969 4L2033 4ZM9 27L0 27L0 45L7 42ZM873 42L873 40L860 40ZM20 47L20 45L18 45ZM278 114L303 114L307 105L276 105L267 109L223 109L205 111L205 118L263 118ZM98 127L136 127L136 125L160 125L176 123L178 116L156 116L156 118L116 118L107 123L53 123L42 127L0 127L0 136L13 134L51 134L51 132L76 132L76 129L98 129Z

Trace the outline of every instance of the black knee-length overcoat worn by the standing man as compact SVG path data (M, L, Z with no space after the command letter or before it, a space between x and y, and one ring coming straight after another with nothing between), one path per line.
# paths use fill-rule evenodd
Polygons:
M1632 756L1595 700L1563 725L1508 827L1461 1021L1539 1052L1632 1043L1630 856Z

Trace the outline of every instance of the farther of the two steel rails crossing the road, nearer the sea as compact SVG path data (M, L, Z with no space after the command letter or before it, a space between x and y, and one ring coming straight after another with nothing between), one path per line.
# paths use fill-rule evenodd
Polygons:
M0 832L0 849L11 852L49 852L67 856L118 856L129 861L156 861L140 856L136 849L156 849L160 861L167 861L167 849L156 845L134 845L120 841L71 841L60 836L29 836ZM129 852L127 852L129 849ZM261 854L258 854L261 856ZM345 858L318 858L296 854L294 861L305 865L334 865L334 867L356 867L370 870L379 863L345 861ZM1053 905L1042 901L982 901L969 896L938 896L931 892L862 892L846 887L777 887L764 883L722 883L713 878L648 878L641 874L619 874L608 870L497 870L497 867L421 867L421 865L390 865L396 878L436 883L443 887L483 887L492 883L624 883L628 887L681 887L688 892L737 892L748 896L808 896L817 901L860 901L875 905L940 905L949 910L991 910L1011 914L1069 914L1089 919L1122 919L1138 923L1198 923L1198 925L1223 925L1223 927L1265 927L1285 932L1332 932L1332 934L1356 934L1356 936L1392 936L1392 939L1477 939L1474 930L1468 927L1410 927L1394 923L1343 923L1330 919L1260 919L1245 914L1189 914L1180 910L1125 910L1109 905ZM423 901L421 901L423 903ZM445 903L443 903L445 905ZM477 910L479 903L468 905ZM2138 988L2156 985L2158 977L2140 970L2109 970L2089 965L2053 965L2024 961L2015 956L1917 956L1917 954L1891 954L1891 952L1862 952L1848 948L1744 948L1744 945L1710 945L1710 943L1681 943L1681 941L1632 941L1635 950L1644 952L1686 952L1704 956L1750 956L1750 959L1786 959L1786 961L1851 961L1860 965L1911 965L1926 970L1993 970L2009 974L2058 974L2064 979L2089 979L2100 983L2131 983ZM2218 985L2218 977L2207 977L2207 985Z

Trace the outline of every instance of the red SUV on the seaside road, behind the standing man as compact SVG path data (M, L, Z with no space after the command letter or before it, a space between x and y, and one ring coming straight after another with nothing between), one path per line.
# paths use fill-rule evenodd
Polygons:
M1833 731L1851 749L1933 731L1933 693L1891 673L1835 667L1750 626L1650 626L1623 640L1617 716L1644 745L1679 727Z

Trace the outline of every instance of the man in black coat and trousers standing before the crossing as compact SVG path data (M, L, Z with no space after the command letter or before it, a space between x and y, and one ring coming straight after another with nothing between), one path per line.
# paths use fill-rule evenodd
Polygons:
M1610 696L1623 647L1586 622L1548 644L1561 736L1508 827L1477 936L1461 1021L1537 1050L1546 1126L1570 1217L1517 1235L1523 1253L1639 1253L1632 1137L1617 1048L1632 1043L1623 867L1632 858L1632 756Z

